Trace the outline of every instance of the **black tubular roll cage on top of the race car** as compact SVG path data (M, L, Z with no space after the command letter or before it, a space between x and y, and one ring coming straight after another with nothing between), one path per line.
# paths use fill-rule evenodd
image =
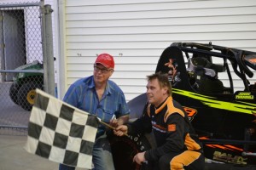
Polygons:
M223 59L223 65L214 65L213 68L217 72L227 71L230 80L230 90L234 93L234 84L232 82L232 75L230 73L230 66L227 60L230 61L233 71L244 83L244 91L250 91L253 85L250 84L247 77L253 77L253 69L256 71L256 53L246 50L241 50L237 48L227 48L222 46L213 45L212 42L209 43L196 43L196 42L174 42L171 47L180 48L186 55L187 59L195 57L203 57L207 61L212 63L212 56ZM189 56L193 54L193 56Z

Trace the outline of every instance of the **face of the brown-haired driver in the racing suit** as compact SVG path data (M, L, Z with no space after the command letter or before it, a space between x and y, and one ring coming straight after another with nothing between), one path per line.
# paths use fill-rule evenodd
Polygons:
M168 96L166 88L160 88L158 79L148 81L147 85L148 103L158 107Z

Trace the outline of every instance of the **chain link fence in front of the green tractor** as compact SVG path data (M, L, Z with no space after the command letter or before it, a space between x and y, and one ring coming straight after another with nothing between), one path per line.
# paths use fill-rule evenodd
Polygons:
M44 11L41 2L0 3L0 134L26 134L35 89L45 88Z

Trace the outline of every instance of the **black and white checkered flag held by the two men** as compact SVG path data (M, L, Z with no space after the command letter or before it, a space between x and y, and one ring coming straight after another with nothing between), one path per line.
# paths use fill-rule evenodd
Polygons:
M91 169L99 119L37 89L25 150L58 163Z

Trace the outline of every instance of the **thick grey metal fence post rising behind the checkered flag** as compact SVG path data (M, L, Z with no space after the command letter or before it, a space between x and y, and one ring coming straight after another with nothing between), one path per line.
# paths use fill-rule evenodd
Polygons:
M53 12L50 5L44 5L41 0L42 14L42 43L43 43L43 60L44 60L44 90L46 93L55 95L55 70L53 56L53 35L51 13Z

